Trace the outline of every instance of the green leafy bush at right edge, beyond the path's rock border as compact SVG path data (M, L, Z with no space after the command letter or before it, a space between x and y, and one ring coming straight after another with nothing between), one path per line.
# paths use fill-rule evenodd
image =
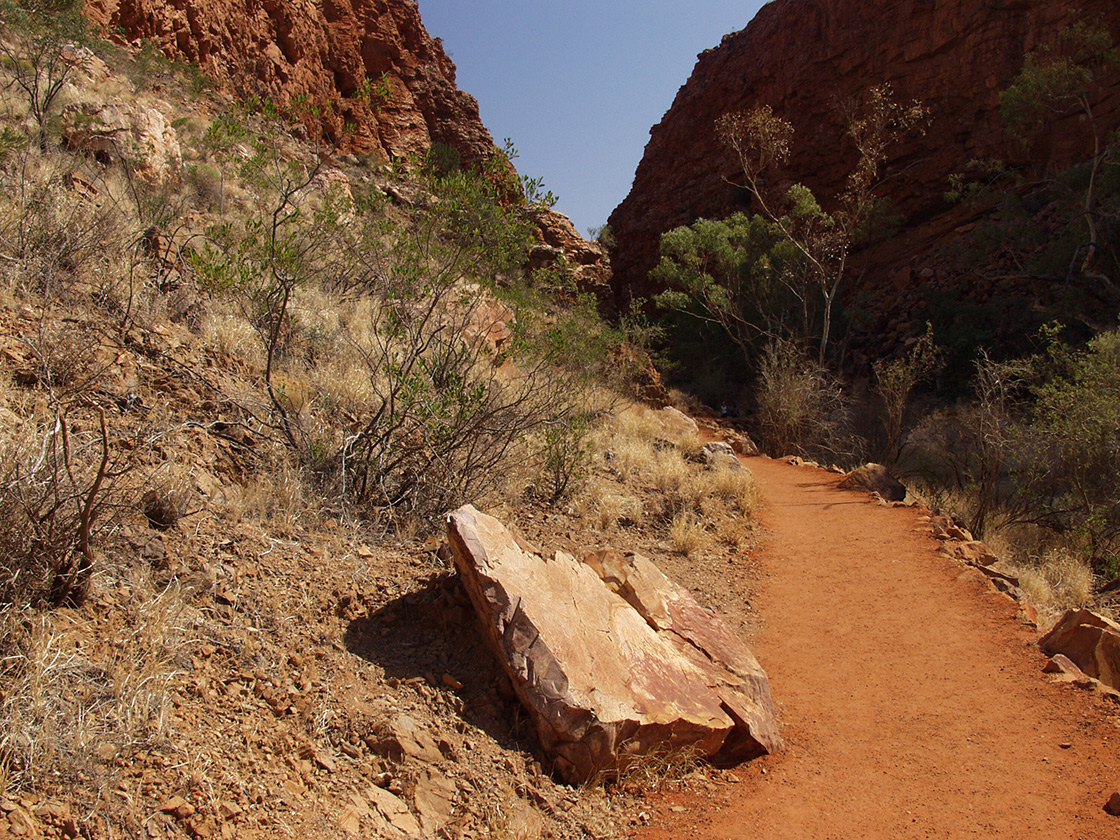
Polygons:
M973 399L925 418L904 466L950 488L970 530L1033 523L1120 573L1120 330L1076 351L977 364Z

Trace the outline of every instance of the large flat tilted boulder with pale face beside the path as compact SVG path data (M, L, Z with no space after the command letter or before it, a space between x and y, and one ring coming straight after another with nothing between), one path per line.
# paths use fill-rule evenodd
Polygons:
M651 753L736 762L781 745L758 662L648 560L545 560L469 505L450 514L448 538L489 644L567 781Z

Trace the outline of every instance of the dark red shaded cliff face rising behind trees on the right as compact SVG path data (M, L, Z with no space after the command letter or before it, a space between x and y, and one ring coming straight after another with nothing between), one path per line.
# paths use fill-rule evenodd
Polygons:
M1081 3L1082 18L1120 31L1120 7ZM920 281L918 263L969 211L949 205L946 179L970 159L1000 158L1026 169L1062 167L1089 156L1091 139L1076 116L1054 120L1036 138L1030 158L1005 132L999 92L1027 52L1073 20L1064 0L775 0L750 25L701 54L672 108L651 131L633 188L610 217L617 305L650 293L647 272L659 236L699 217L735 208L738 175L716 139L715 121L730 111L771 104L795 129L790 167L781 180L834 195L856 158L842 138L838 103L890 82L899 100L931 111L924 137L912 137L887 162L884 193L905 214L903 235L880 246L864 283L889 307ZM1120 76L1093 103L1107 130L1120 111ZM1083 119L1083 118L1082 118Z

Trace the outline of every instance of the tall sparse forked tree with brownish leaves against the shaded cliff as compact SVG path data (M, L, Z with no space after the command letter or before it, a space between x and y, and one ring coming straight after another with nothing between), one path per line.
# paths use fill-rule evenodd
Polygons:
M745 186L758 215L801 253L809 267L809 283L822 298L818 362L824 363L832 332L833 306L849 271L852 249L866 240L884 209L875 190L887 151L905 133L924 131L927 111L918 102L895 101L889 84L869 90L864 101L846 108L848 138L859 153L836 208L827 211L809 187L795 184L784 196L774 196L764 179L790 158L793 127L769 105L725 114L717 136L739 159Z

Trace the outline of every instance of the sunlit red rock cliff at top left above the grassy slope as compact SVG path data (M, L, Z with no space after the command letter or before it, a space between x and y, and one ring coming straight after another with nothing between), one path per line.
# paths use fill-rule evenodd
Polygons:
M403 157L440 142L465 164L493 153L478 103L456 86L455 65L413 0L87 0L85 8L106 32L155 40L223 87L280 105L306 96L325 139L343 150ZM382 83L386 96L377 95Z

